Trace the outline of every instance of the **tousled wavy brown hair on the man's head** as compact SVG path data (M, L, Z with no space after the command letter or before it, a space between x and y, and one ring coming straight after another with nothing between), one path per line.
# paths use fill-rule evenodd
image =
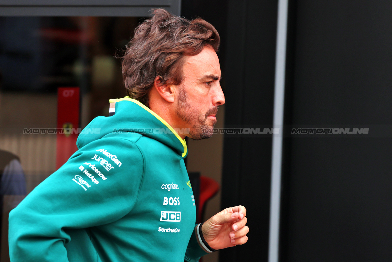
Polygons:
M181 83L185 56L198 55L205 45L218 51L218 31L201 18L189 21L164 9L135 29L122 57L127 95L148 106L148 93L157 76L161 84Z

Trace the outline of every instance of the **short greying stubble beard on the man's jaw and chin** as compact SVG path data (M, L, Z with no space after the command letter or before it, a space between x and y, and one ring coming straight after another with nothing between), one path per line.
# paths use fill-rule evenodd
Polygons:
M209 125L207 116L216 114L218 112L218 107L214 106L210 108L207 113L202 114L187 102L187 93L183 87L180 87L178 91L176 115L192 126L189 130L190 137L193 140L210 138L214 134L216 119L212 121L212 125Z

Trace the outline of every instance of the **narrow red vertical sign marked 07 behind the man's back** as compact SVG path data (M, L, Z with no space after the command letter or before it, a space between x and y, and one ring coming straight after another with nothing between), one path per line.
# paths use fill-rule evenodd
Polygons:
M81 129L79 87L59 87L57 89L57 127L62 133L57 134L56 169L67 162L68 158L78 150L76 139Z

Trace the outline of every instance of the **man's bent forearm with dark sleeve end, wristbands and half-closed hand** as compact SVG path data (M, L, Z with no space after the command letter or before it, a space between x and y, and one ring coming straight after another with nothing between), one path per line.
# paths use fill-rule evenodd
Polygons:
M198 261L201 256L218 249L245 244L249 232L246 223L245 207L236 206L226 208L206 222L196 225L185 253L185 261Z

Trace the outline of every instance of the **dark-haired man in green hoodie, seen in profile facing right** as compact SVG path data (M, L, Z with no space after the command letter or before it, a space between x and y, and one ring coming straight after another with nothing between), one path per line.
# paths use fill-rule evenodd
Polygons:
M129 96L111 100L111 116L85 127L79 150L11 212L11 261L197 261L247 241L243 206L194 225L183 161L185 136L210 137L225 102L218 32L154 14L123 57Z

